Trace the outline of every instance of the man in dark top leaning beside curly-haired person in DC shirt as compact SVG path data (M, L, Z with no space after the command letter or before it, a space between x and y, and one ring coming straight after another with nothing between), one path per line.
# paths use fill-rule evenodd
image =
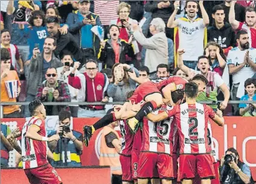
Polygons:
M57 46L54 53L57 57L62 58L65 52L71 52L74 59L80 63L85 63L85 57L78 46L75 37L71 33L61 34L59 31L60 22L57 17L48 17L46 20L47 31L50 36L56 37Z

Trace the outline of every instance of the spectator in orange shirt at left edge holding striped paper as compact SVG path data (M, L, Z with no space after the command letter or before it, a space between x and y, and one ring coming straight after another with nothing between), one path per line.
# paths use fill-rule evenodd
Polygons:
M21 92L21 82L16 71L10 71L11 56L6 48L1 48L1 102L16 102L16 97ZM13 83L15 81L15 83ZM9 87L6 86L14 84L17 88L17 92L12 92ZM17 86L18 85L18 86ZM15 89L15 88L14 88ZM13 95L12 94L16 94ZM3 106L4 118L19 118L21 109L17 105Z

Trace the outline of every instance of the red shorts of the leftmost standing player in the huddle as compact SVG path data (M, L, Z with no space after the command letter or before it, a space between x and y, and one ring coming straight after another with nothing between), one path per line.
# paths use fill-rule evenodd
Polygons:
M133 182L132 179L132 156L120 155L120 163L122 167L122 181Z

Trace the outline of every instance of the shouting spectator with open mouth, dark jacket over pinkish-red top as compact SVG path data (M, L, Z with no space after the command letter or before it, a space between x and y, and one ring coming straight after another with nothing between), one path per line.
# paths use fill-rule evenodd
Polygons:
M121 40L120 28L117 25L109 27L110 39L101 42L98 59L103 62L106 68L112 68L115 63L126 63L126 54L134 57L135 51L132 45L132 36L129 41Z

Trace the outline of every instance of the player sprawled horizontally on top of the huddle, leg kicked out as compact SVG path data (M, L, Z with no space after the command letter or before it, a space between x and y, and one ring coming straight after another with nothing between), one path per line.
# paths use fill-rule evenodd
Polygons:
M199 86L199 92L202 92L205 89L206 84L208 83L208 81L206 80L205 77L203 77L203 75L195 75L193 77L192 81L197 83L197 85ZM162 104L163 97L161 95L161 92L164 97L167 96L167 95L165 95L166 93L170 94L170 95L168 95L168 97L171 97L171 91L175 91L176 89L184 89L185 83L187 83L187 80L185 80L182 77L177 77L177 76L169 77L165 80L160 81L159 83L153 83L153 82L143 83L143 84L139 85L139 87L135 90L134 94L132 95L132 97L129 98L129 100L132 101L132 103L140 103L142 100L147 101L147 100L150 100L151 98L155 98L155 95L157 97L159 97L159 95L160 95L161 100L159 100L159 101L161 101L161 103L158 103L158 104ZM149 87L149 86L151 86L151 87ZM153 86L155 86L155 87L153 87ZM169 89L170 86L171 86L170 91L167 91L167 89ZM145 91L147 90L147 93L144 91L144 87L145 87ZM158 98L156 98L156 99L158 99ZM150 104L152 104L152 103L150 103L150 101L148 101L148 102L142 106L141 110L139 110L139 112L137 114L139 116L142 116L142 118L145 115L147 115L149 112L151 112L154 108L154 107L150 106ZM173 103L173 100L171 100L171 103ZM122 108L126 109L127 106L129 106L129 103L124 103ZM145 107L149 107L149 109L147 109ZM144 113L144 111L142 111L142 109L147 109L147 110ZM135 113L135 115L136 115L136 113ZM110 124L111 122L117 121L118 119L125 119L124 116L125 116L124 113L110 113L109 115L105 115L103 118L101 118L99 121L97 121L94 125L91 125L91 126L85 125L83 139L84 139L86 147L88 147L89 139L91 138L91 136L95 132L95 130L102 128L102 127ZM138 118L138 119L142 119L142 118ZM131 119L129 119L129 120L130 120L130 122L134 122L134 124L130 126L130 128L132 128L132 130L134 130L135 125L138 123L138 121L136 118L133 119L134 121Z

